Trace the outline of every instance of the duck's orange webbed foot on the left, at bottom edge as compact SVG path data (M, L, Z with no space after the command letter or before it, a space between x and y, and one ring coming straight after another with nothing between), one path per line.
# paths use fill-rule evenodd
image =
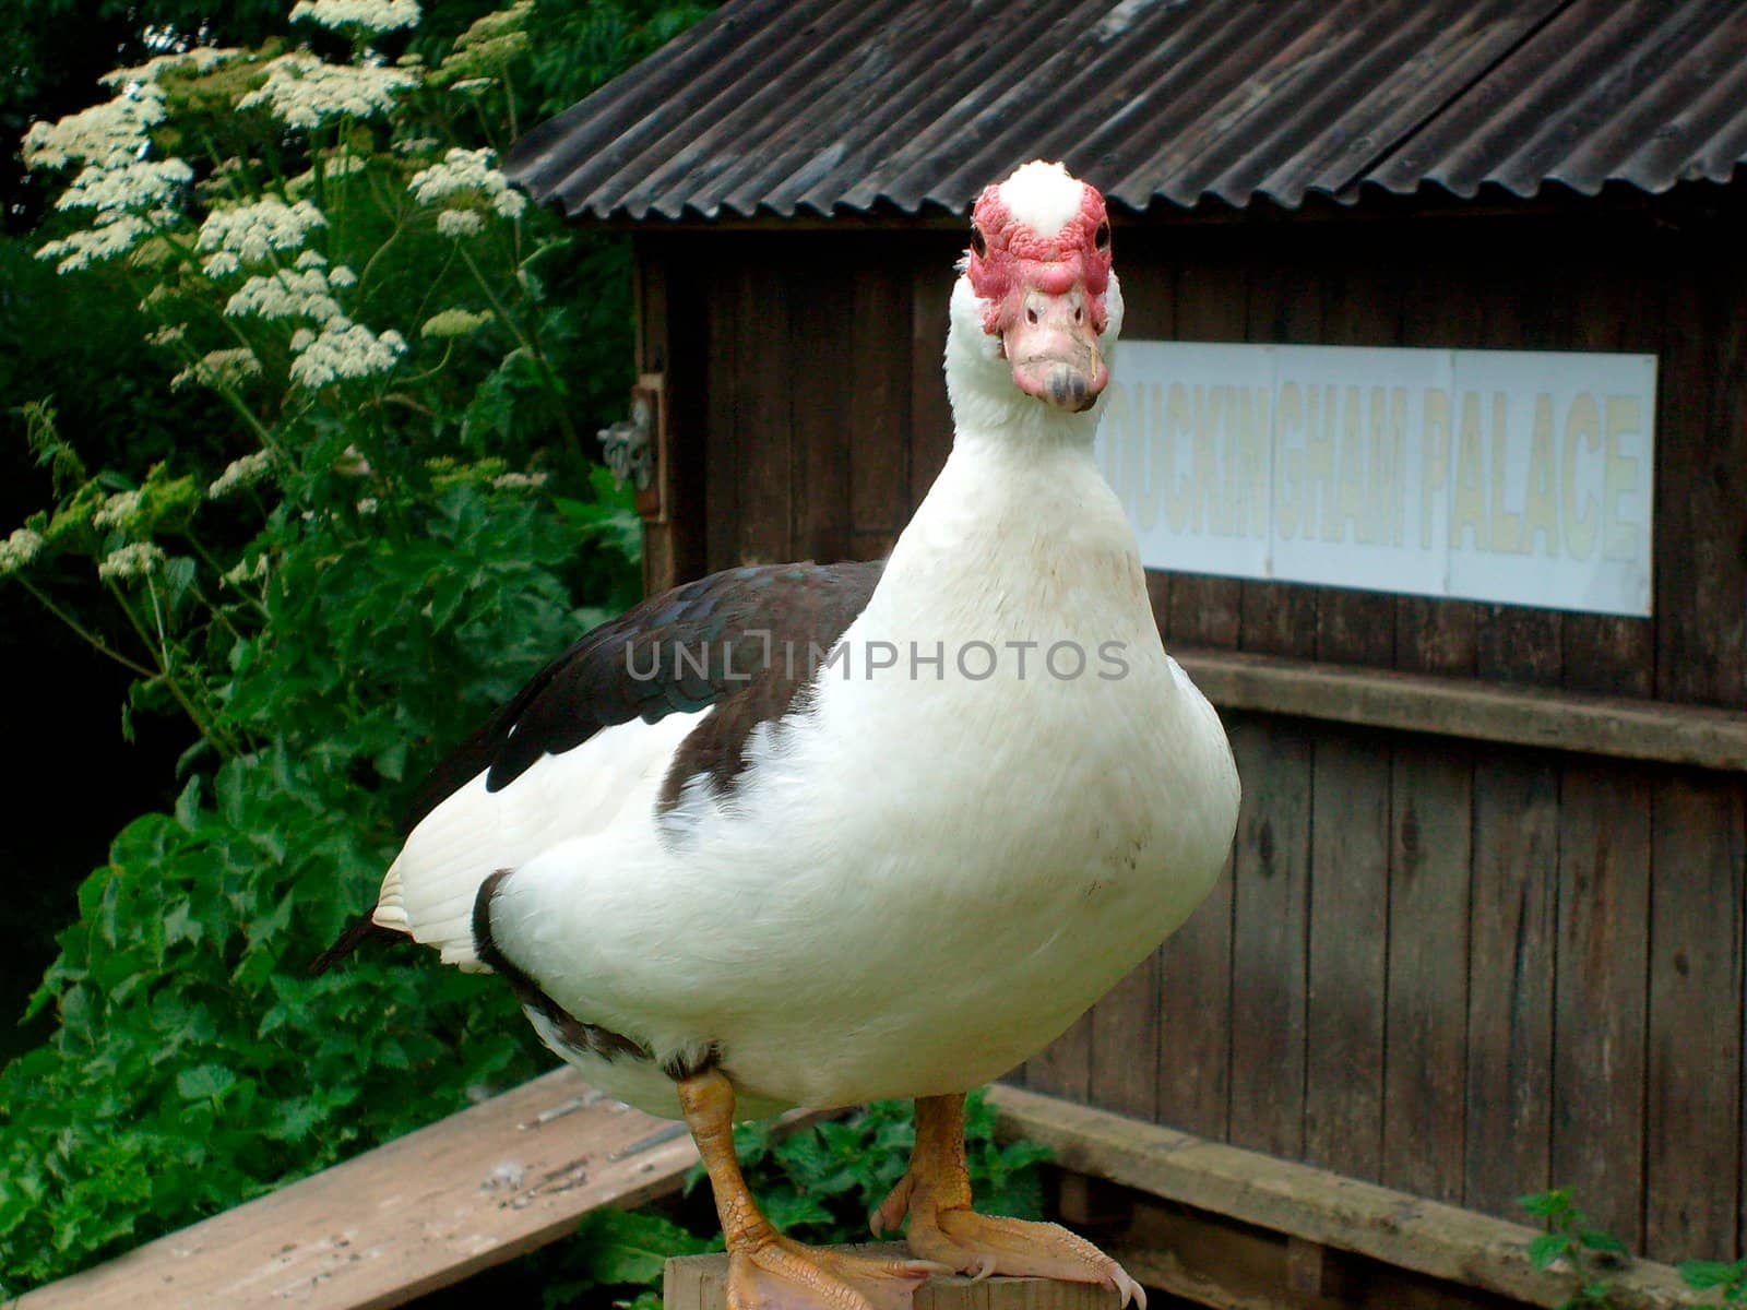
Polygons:
M730 1310L910 1310L910 1298L935 1273L924 1259L851 1256L805 1247L786 1237L728 1254Z

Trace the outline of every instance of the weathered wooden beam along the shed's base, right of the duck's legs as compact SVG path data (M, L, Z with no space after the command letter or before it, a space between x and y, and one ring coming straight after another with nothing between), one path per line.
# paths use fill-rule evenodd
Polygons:
M1527 1305L1557 1307L1572 1294L1569 1272L1529 1265L1536 1228L1017 1086L991 1088L989 1102L1003 1135L1050 1146L1055 1163L1078 1174ZM1618 1310L1710 1305L1653 1261L1611 1280Z

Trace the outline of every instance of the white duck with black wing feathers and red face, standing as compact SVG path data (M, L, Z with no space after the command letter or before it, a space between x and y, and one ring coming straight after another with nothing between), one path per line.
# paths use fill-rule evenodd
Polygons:
M730 1305L900 1305L940 1265L1139 1287L970 1209L963 1093L1045 1046L1214 884L1239 784L1165 655L1092 459L1122 325L1095 189L1032 162L975 206L957 423L879 564L742 568L590 632L438 770L374 920L515 987L590 1083L697 1137ZM452 788L452 789L451 789ZM809 1251L730 1125L917 1099L875 1231Z

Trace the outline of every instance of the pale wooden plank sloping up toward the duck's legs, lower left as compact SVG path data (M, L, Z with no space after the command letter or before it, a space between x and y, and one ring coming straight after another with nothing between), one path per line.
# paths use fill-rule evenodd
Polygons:
M685 1125L570 1071L26 1293L17 1310L379 1310L676 1191Z

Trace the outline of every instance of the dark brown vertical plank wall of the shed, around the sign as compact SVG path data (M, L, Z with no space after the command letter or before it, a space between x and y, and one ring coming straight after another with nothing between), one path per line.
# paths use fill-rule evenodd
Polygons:
M1737 229L1120 227L1130 337L1660 356L1654 620L1153 575L1167 645L1747 709ZM891 545L947 452L957 246L645 241L695 428L676 449L704 470L674 529L695 538L685 575ZM1572 1186L1649 1256L1740 1254L1744 779L1258 714L1228 730L1230 875L1015 1079L1499 1216Z

